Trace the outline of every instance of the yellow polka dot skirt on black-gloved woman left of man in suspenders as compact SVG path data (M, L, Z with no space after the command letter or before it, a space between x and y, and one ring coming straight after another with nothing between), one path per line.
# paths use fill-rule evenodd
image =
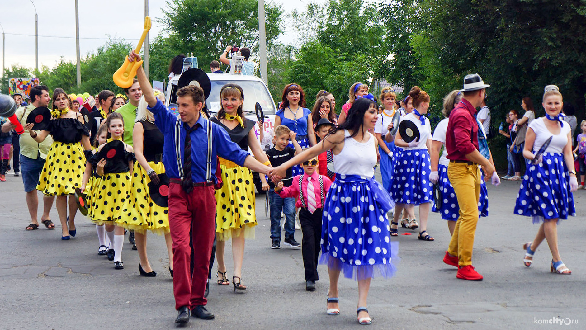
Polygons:
M162 162L149 162L157 174L165 173ZM169 233L169 209L156 205L149 195L148 183L151 178L138 162L132 171L131 203L125 217L118 221L120 226L144 234L150 230L156 234Z

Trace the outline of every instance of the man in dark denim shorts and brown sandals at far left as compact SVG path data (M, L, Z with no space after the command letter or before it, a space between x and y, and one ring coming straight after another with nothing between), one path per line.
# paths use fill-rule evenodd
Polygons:
M51 97L49 96L49 89L47 86L35 86L30 90L31 103L26 107L20 107L16 110L16 118L21 124L26 124L26 118L29 116L30 111L35 110L37 107L48 107ZM2 132L9 132L16 128L10 122L2 125ZM37 133L37 132L35 132ZM36 135L36 134L35 134ZM53 144L53 138L49 135L45 141L39 143L30 137L29 131L25 130L21 134L20 147L21 147L21 171L22 171L22 182L25 185L26 192L26 205L29 208L31 223L26 227L26 230L33 230L39 227L37 220L37 210L39 207L39 198L37 195L36 186L39 182L40 172L43 170L45 165L45 159L49 148ZM49 219L49 212L53 206L53 200L55 196L43 195L43 216L40 218L41 222L45 224L48 229L53 229L55 225Z

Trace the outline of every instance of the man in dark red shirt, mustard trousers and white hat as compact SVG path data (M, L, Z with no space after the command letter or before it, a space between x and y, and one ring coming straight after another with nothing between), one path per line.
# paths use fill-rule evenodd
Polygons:
M444 263L458 267L457 278L482 280L482 275L472 267L472 248L478 222L478 197L480 194L482 166L486 178L492 178L495 166L478 151L478 124L474 115L490 87L478 74L464 77L462 101L449 115L445 148L448 151L448 178L454 186L460 217L454 235L445 253Z

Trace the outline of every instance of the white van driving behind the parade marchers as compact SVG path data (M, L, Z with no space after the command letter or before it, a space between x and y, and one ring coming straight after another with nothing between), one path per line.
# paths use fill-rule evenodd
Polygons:
M167 84L167 93L165 97L167 105L176 103L177 101L176 92L179 77L180 75L171 78ZM246 118L258 122L255 112L255 104L258 102L263 108L265 117L262 128L263 131L265 134L269 131L274 131L273 121L277 107L275 107L271 93L268 91L268 87L262 79L256 76L243 76L241 74L229 73L207 73L207 77L209 77L210 82L212 83L212 90L210 91L210 96L207 97L206 106L212 115L215 115L220 109L220 89L222 89L222 86L227 83L239 84L244 91L244 104L242 105L242 110L244 111ZM259 137L258 130L258 125L255 125L254 133L257 138ZM253 179L258 192L264 193L261 189L261 182L258 173L253 172Z

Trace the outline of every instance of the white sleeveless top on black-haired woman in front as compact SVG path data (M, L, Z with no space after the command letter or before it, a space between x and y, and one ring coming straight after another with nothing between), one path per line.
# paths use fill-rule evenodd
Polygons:
M338 155L333 155L333 168L336 173L360 175L363 179L374 176L376 165L376 149L374 149L374 135L370 132L369 140L361 143L350 138L350 132L344 130L344 147Z

